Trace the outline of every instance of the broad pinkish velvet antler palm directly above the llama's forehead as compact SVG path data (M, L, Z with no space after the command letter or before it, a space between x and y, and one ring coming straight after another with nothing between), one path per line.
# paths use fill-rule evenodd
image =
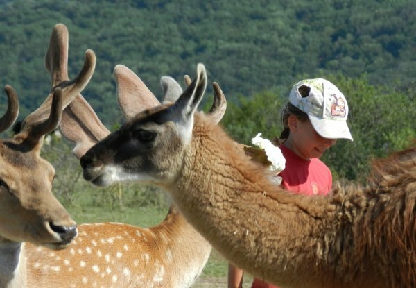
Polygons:
M146 84L128 67L114 67L117 101L125 119L135 117L137 113L160 105L159 100L148 89Z

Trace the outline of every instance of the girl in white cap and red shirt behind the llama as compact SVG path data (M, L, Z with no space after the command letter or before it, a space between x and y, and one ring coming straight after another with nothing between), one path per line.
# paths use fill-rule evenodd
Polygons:
M337 139L352 141L347 116L347 100L331 82L322 78L306 79L293 86L289 103L282 112L283 144L279 148L286 167L279 176L283 187L310 196L331 192L331 171L319 158ZM242 288L243 276L243 270L229 264L228 287ZM252 288L277 286L254 278Z

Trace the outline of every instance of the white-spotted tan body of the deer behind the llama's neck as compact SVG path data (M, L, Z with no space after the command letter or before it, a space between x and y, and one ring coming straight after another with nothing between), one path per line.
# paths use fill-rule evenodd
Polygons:
M211 246L174 207L157 226L78 226L62 251L26 244L28 287L190 287Z

